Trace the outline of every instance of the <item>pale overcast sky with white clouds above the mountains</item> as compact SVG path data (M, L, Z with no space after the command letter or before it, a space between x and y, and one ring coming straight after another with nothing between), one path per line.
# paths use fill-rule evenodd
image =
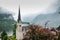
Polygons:
M58 0L0 0L0 6L14 12L17 18L20 5L22 17L36 14L53 13L58 7Z

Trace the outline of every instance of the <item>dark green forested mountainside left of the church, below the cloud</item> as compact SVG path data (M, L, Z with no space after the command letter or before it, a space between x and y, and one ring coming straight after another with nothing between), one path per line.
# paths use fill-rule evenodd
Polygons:
M10 18L9 18L10 17ZM3 30L10 32L13 30L13 25L16 23L11 14L0 14L0 32Z

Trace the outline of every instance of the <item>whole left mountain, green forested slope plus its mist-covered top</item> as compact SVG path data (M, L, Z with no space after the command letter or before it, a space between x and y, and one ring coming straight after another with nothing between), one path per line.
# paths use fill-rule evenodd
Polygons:
M6 30L11 32L13 30L13 24L16 23L12 13L0 7L0 32Z

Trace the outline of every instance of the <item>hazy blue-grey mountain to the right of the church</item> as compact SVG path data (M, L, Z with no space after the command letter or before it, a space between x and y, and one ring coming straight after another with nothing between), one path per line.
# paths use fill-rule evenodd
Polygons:
M32 21L35 24L45 26L45 23L48 22L47 27L58 27L60 25L60 14L51 13L51 14L40 14L34 18Z

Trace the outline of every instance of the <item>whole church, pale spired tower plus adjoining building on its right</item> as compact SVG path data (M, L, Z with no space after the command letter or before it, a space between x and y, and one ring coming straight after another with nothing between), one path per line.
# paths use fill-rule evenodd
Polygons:
M26 25L24 25L24 24L26 24ZM29 25L29 22L22 22L21 14L20 14L20 7L19 7L17 28L16 28L16 39L17 40L23 40L24 35L26 34L26 32L25 32L26 30L23 28L28 25Z

